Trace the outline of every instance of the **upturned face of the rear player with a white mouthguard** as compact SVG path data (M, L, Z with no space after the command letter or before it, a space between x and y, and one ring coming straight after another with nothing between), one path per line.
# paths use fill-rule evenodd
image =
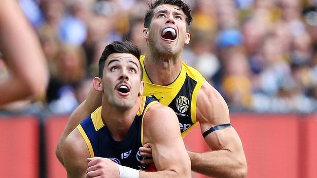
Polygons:
M189 43L186 32L186 16L176 5L162 4L154 9L149 29L143 30L151 50L163 54L182 53L184 44Z

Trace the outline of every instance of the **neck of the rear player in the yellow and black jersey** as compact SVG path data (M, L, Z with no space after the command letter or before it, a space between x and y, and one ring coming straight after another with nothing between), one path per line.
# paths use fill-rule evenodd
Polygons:
M169 85L176 80L181 70L181 55L155 54L148 51L144 68L153 84Z

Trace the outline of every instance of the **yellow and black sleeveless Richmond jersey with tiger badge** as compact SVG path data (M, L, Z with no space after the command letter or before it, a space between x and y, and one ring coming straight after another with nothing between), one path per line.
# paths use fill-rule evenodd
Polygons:
M140 63L143 67L143 81L145 82L143 95L154 96L162 105L171 107L179 121L182 138L197 125L196 103L198 91L205 78L194 68L181 63L181 71L177 79L167 85L153 84L144 68L144 57L141 55Z

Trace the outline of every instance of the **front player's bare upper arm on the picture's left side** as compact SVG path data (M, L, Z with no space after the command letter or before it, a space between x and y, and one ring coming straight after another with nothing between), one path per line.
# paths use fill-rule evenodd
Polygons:
M90 158L86 142L78 129L74 129L65 139L62 152L67 178L84 178Z

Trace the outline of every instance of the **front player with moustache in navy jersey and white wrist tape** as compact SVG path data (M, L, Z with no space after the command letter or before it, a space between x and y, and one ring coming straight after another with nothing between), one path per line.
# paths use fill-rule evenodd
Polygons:
M64 142L62 155L68 178L191 177L176 114L156 99L142 95L139 53L132 43L119 41L103 51L99 77L93 84L102 93L101 107ZM144 143L152 148L156 172L141 171L149 167L141 163L139 147ZM92 159L87 163L87 158ZM96 166L100 159L102 167Z

